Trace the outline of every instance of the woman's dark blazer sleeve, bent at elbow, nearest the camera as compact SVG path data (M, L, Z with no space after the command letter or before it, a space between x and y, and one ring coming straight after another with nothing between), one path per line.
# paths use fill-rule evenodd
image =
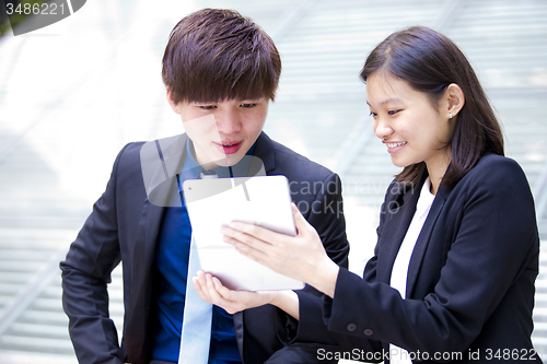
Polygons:
M335 298L324 306L328 330L363 344L374 339L411 351L463 352L515 282L533 286L538 238L524 173L509 158L476 168L452 191L462 203L453 211L456 226L446 236L452 243L434 290L422 300L403 300L387 284L340 269ZM373 266L365 278L374 275Z

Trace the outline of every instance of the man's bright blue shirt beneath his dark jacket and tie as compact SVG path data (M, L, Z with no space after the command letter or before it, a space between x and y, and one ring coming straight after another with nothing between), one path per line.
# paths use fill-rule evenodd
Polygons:
M247 155L252 155L255 145ZM201 168L194 157L190 140L186 144L186 158L181 173L181 184L196 179ZM219 177L246 176L248 160L243 158L233 167L217 167ZM188 260L191 226L183 200L181 208L166 208L155 253L155 309L152 313L152 360L178 362L184 303L188 280ZM213 306L209 364L241 363L232 315Z

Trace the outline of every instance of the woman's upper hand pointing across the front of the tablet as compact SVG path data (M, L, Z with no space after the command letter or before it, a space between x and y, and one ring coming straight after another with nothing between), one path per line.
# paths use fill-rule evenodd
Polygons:
M274 271L303 281L334 296L338 266L328 258L315 228L292 204L298 235L288 236L252 224L222 227L224 242Z

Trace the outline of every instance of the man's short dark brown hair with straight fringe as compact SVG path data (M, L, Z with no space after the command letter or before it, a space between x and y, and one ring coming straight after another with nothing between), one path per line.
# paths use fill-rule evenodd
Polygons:
M171 32L162 77L178 104L274 99L281 59L274 40L238 12L202 9Z

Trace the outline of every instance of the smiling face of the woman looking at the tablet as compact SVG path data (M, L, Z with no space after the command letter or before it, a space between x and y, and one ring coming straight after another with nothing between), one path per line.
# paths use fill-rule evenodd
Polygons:
M451 161L450 149L444 146L454 122L447 111L439 111L442 102L434 107L427 94L391 73L375 72L366 78L374 133L387 146L394 165L426 162L430 175L444 175Z

